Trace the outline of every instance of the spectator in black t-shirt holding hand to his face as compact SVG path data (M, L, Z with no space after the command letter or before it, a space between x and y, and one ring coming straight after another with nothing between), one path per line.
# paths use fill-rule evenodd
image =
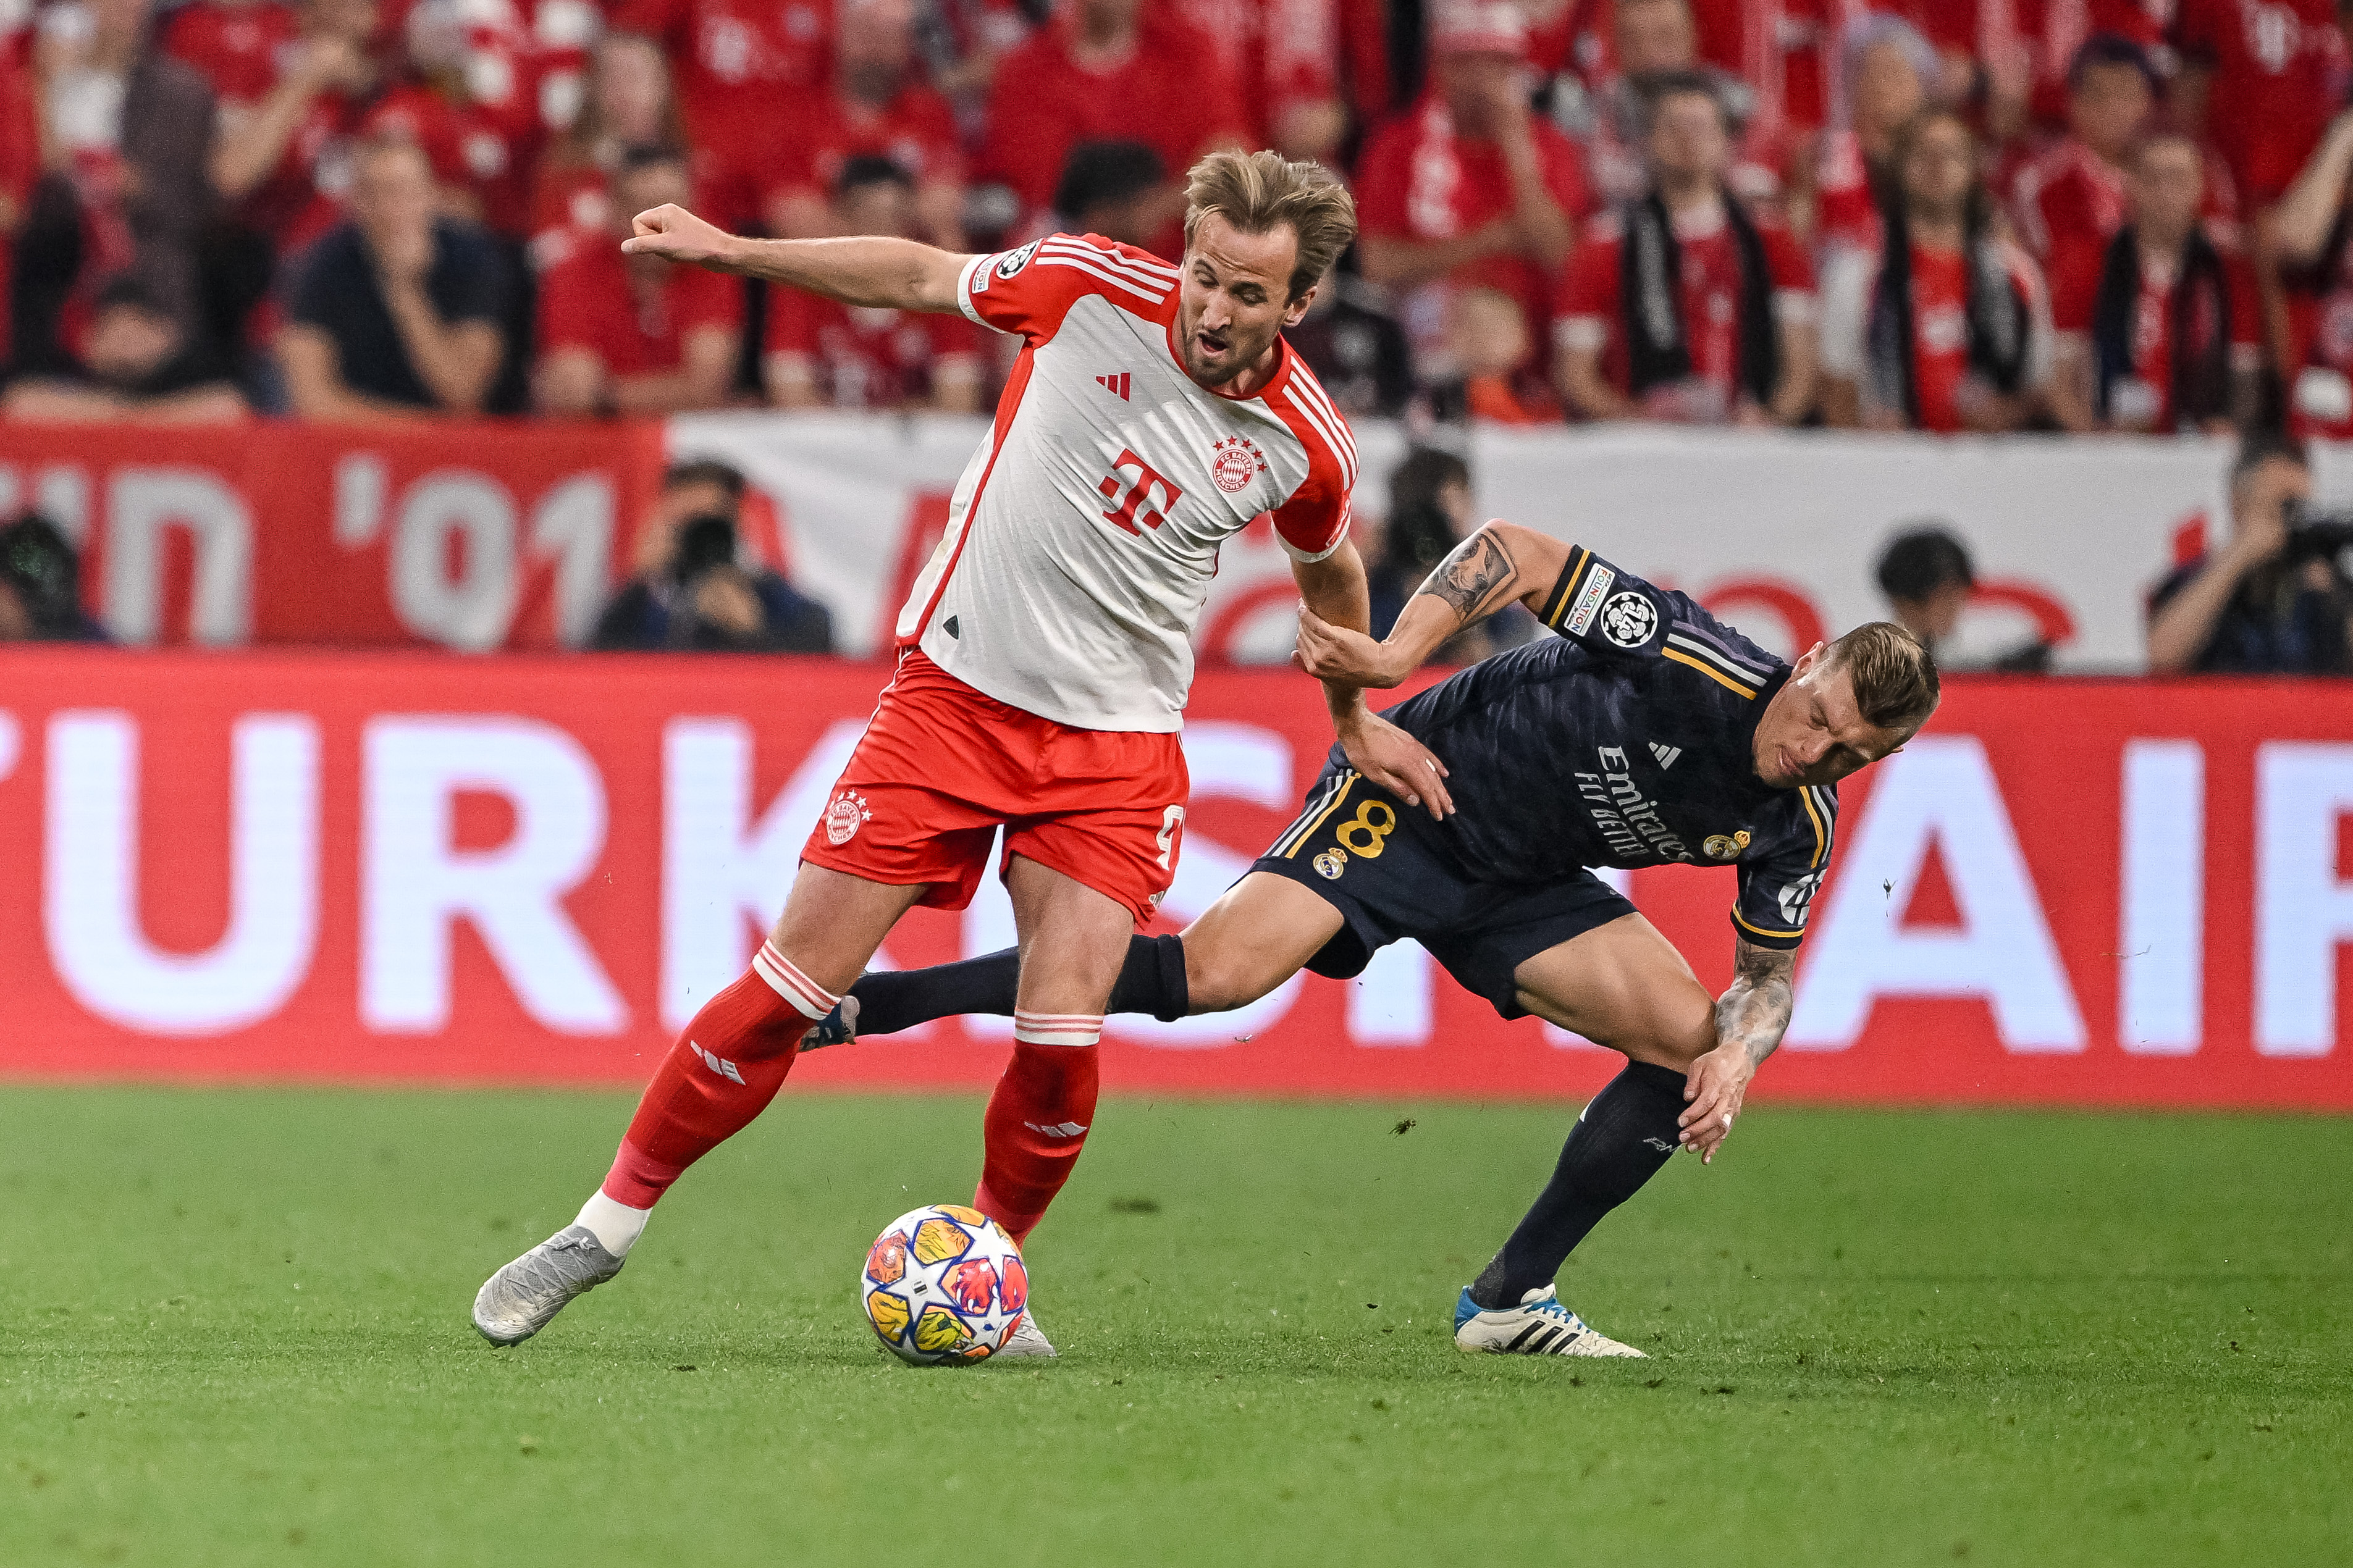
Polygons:
M351 219L294 263L278 334L294 414L376 423L482 409L504 350L506 263L489 235L433 207L416 146L353 153Z

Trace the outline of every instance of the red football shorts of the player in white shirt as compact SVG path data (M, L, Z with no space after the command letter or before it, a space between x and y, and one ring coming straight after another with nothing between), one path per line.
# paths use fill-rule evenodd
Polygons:
M1174 733L1040 719L906 649L800 858L962 910L1002 825L1005 860L1085 882L1141 926L1176 875L1188 790Z

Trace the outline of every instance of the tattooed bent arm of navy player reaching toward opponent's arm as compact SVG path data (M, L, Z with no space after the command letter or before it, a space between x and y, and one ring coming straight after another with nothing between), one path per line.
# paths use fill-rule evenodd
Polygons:
M1438 562L1384 642L1320 616L1299 616L1299 665L1327 682L1395 686L1447 637L1513 599L1541 611L1569 555L1572 548L1551 534L1489 522Z

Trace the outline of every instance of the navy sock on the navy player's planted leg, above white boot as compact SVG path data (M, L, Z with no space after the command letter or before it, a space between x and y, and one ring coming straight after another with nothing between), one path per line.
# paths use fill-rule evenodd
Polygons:
M1504 1251L1480 1269L1471 1300L1485 1309L1518 1307L1553 1284L1560 1265L1600 1218L1642 1190L1675 1152L1682 1079L1673 1067L1626 1063L1577 1117L1527 1218Z

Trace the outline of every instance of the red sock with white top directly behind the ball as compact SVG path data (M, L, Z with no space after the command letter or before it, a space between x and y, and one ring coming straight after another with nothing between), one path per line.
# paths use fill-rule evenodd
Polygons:
M972 1194L1014 1241L1028 1241L1087 1147L1101 1034L1101 1018L1014 1013L1014 1060L988 1095L981 1190Z

